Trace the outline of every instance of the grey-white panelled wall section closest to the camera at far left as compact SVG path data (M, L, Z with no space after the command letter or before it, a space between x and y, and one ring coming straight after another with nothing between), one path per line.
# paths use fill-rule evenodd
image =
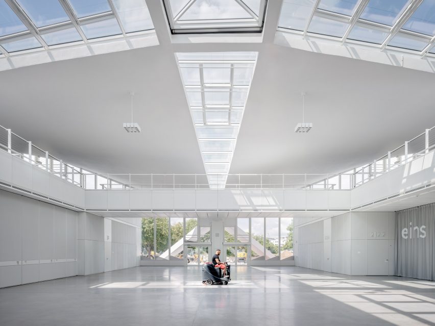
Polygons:
M0 288L77 275L77 212L0 190Z

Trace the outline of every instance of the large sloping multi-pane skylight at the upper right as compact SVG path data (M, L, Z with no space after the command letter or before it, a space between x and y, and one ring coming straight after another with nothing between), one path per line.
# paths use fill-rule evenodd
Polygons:
M433 53L434 17L435 0L284 0L278 29L424 57Z

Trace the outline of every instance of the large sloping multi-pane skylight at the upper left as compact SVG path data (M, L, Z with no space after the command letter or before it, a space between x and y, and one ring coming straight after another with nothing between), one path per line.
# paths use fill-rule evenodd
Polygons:
M0 53L153 30L145 0L0 0Z

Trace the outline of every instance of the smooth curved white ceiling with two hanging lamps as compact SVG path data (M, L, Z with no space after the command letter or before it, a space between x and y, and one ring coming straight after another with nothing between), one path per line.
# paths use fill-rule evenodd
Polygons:
M0 72L0 124L96 172L204 173L174 53L258 51L230 173L341 172L435 125L433 73L266 41L174 45L156 9L158 46ZM129 91L140 134L122 128Z

